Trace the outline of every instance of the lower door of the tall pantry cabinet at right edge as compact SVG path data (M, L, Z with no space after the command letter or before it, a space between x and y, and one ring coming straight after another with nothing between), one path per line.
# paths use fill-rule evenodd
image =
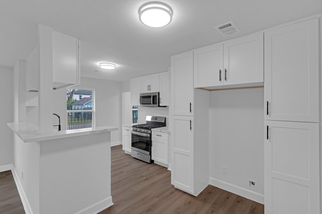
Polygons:
M318 123L266 120L265 128L265 214L320 213Z

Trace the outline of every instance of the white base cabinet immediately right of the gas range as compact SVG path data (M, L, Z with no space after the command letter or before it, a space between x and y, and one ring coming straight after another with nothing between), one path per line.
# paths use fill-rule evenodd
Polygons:
M168 154L168 133L152 130L152 160L156 164L168 167Z

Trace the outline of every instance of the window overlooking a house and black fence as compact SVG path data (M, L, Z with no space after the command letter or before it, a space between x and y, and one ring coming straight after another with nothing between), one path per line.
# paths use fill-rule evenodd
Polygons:
M93 90L66 89L67 129L93 126Z

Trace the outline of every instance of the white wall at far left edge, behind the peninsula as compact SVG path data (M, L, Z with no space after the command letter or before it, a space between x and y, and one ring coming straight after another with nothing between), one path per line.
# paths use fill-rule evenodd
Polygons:
M13 163L13 132L7 123L14 121L13 69L0 66L0 92L2 116L0 117L0 166Z

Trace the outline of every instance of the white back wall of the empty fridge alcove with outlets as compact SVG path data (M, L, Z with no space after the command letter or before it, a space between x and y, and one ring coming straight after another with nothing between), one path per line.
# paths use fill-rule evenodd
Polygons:
M263 195L264 88L212 91L209 133L210 183Z

